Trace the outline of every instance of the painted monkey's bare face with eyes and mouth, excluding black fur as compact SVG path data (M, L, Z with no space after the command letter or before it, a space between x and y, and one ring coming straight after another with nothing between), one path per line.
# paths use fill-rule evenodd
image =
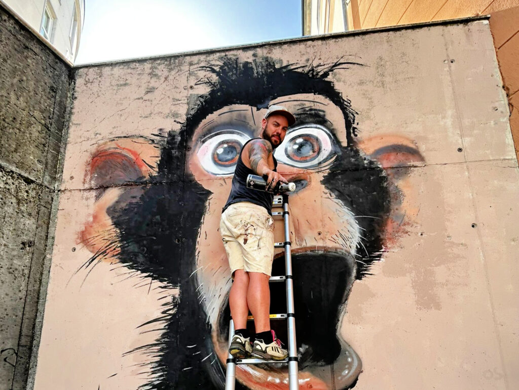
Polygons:
M363 261L368 254L361 246L360 218L347 206L348 200L334 192L340 186L324 184L337 160L344 158L347 146L344 114L322 95L294 94L268 102L269 105L281 103L298 118L275 156L278 171L297 185L296 192L290 196L290 205L294 275L297 275L296 312L302 318L297 324L300 367L304 369L300 378L302 383L315 388L332 388L332 383L336 388L345 388L357 378L361 364L340 334L339 322L345 315L356 262ZM261 122L264 112L265 109L243 104L217 110L200 122L188 147L189 171L212 193L197 239L196 276L215 353L222 362L227 357L230 273L217 234L218 224L230 191L229 175L234 172L244 143L259 136L256 124ZM348 172L335 172L335 180L340 182L349 176ZM224 181L226 177L228 180ZM380 177L380 185L383 182ZM381 186L379 191L383 190ZM278 275L284 275L283 254L276 257ZM272 287L271 311L286 312L284 288L276 287ZM278 334L286 333L284 323L272 326ZM337 372L334 378L326 372L331 365ZM286 384L288 375L285 369L238 366L238 378L255 388L262 384Z

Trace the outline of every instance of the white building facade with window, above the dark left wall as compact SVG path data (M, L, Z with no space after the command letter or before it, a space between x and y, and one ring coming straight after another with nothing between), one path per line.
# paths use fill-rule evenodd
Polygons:
M85 0L0 0L70 62L79 49Z

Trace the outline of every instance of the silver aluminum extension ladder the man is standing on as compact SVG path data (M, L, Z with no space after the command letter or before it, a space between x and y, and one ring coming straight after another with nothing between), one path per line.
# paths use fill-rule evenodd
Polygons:
M274 197L272 207L282 207L283 211L272 212L272 216L283 216L284 223L284 242L275 242L274 248L284 248L285 250L285 275L273 276L270 282L285 282L286 285L286 314L270 314L271 319L285 319L288 330L288 358L284 360L264 360L264 359L237 359L230 353L227 355L227 372L225 375L225 390L234 390L236 384L236 365L237 364L272 364L288 363L289 366L289 390L297 390L299 382L297 379L297 348L295 341L295 317L294 317L294 284L292 280L292 254L289 227L289 197L286 194ZM252 319L249 316L248 319ZM229 348L234 336L234 322L231 319L229 324Z

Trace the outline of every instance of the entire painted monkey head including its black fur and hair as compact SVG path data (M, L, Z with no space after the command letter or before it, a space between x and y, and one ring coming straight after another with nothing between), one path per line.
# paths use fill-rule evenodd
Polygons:
M213 76L200 81L209 92L190 100L182 131L170 132L161 147L156 174L144 175L144 163L127 169L132 164L124 155L131 153L119 153L125 147L94 155L91 177L121 171L151 185L118 193L103 206L118 234L94 248L85 266L115 255L180 290L157 319L167 323L160 338L138 348L153 349L158 359L145 388L223 388L231 281L218 223L241 147L259 135L272 104L297 118L275 156L278 171L297 186L290 208L300 384L344 389L356 382L361 360L341 324L354 280L380 258L390 196L384 170L354 142L355 112L326 80L345 64L356 65L283 67L268 58L224 57L203 69ZM283 270L275 260L273 275ZM284 286L272 286L271 312L285 312L284 296ZM285 324L272 326L283 339ZM237 379L238 388L288 388L283 365L239 366Z

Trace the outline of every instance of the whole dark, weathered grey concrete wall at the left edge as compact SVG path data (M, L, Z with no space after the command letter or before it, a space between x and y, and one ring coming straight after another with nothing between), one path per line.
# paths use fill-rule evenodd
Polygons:
M0 6L0 388L25 388L70 68Z

